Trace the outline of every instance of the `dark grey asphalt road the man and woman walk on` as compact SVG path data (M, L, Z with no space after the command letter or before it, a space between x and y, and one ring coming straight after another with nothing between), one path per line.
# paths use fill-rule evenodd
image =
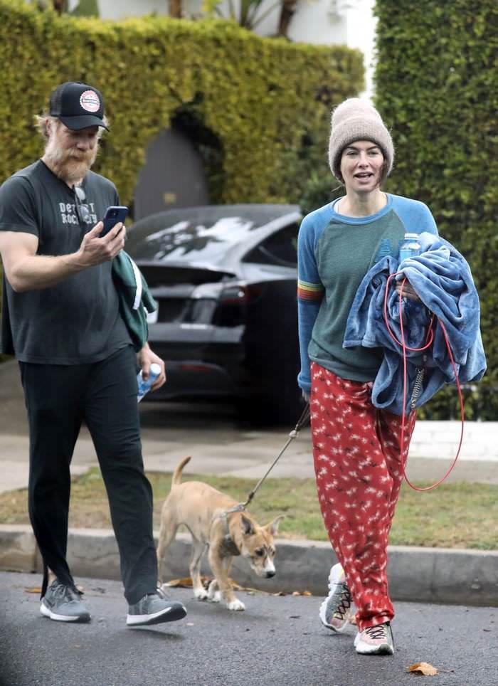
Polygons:
M88 624L43 618L26 589L39 575L0 573L1 686L434 686L498 685L498 608L397 603L393 657L356 655L355 630L334 635L317 618L319 599L239 593L243 613L173 597L180 622L130 630L116 581L78 579ZM435 677L406 667L424 661Z

